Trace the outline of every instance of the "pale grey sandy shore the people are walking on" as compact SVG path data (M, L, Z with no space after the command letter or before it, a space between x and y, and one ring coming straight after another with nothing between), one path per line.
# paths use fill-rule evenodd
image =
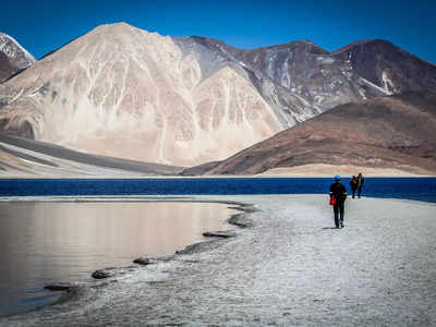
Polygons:
M0 325L436 325L436 205L348 199L337 230L323 195L195 198L253 204L254 226Z

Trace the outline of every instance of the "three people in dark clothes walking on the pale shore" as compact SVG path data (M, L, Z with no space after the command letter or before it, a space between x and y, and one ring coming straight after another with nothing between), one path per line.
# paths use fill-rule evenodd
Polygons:
M362 186L365 180L363 179L362 173L360 172L358 177L353 175L350 181L351 194L354 198L355 191L358 191L358 197L361 198L362 195ZM340 182L340 175L337 174L335 177L335 183L330 185L330 205L334 207L335 214L335 226L336 228L343 228L343 211L344 211L344 203L347 199L347 189Z

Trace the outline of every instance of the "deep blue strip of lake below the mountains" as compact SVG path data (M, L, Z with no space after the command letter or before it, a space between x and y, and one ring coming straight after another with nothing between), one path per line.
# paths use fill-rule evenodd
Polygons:
M350 179L342 179L349 187ZM323 194L329 178L3 179L0 196ZM436 202L436 178L366 178L364 196Z

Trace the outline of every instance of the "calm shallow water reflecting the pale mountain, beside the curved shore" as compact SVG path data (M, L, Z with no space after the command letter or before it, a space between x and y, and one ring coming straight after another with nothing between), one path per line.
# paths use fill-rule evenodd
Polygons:
M204 231L231 229L233 213L213 203L0 203L0 315L57 300L48 283L173 254Z

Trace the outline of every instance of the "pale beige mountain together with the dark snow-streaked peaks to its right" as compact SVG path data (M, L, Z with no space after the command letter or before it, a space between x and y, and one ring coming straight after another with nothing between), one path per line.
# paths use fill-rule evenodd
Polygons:
M174 166L220 160L339 104L436 92L436 68L367 40L240 50L102 25L0 85L0 130Z

